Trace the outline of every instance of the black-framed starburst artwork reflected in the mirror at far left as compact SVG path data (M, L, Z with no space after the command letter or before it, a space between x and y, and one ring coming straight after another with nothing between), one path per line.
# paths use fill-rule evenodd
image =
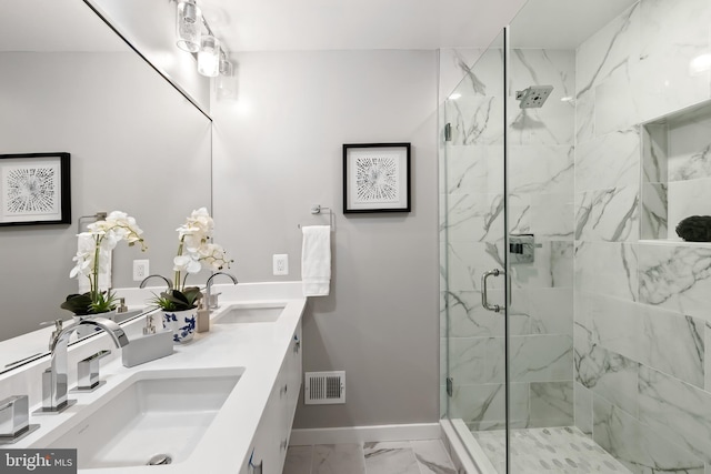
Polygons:
M69 153L0 154L0 225L69 224Z

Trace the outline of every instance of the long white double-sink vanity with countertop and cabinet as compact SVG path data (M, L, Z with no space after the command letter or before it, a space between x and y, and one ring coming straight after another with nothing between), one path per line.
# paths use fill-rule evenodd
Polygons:
M32 413L47 357L0 375L0 400L28 394L30 423L40 424L3 447L73 447L83 473L280 474L301 386L307 300L299 282L214 288L221 296L210 332L131 369L112 349L101 364L106 383L70 392L77 403L61 413ZM142 293L126 297L134 304ZM129 340L143 324L123 325ZM79 361L111 347L106 334L71 346L69 386Z

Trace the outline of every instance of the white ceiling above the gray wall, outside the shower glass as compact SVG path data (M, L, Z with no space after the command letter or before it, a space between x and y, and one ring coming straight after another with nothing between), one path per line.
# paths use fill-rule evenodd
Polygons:
M482 47L523 1L198 0L198 4L230 51L271 51Z

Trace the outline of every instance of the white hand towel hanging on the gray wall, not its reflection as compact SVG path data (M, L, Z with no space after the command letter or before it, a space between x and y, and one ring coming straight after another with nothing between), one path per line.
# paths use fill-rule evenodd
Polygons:
M328 296L331 282L331 226L302 228L301 281L304 296Z

